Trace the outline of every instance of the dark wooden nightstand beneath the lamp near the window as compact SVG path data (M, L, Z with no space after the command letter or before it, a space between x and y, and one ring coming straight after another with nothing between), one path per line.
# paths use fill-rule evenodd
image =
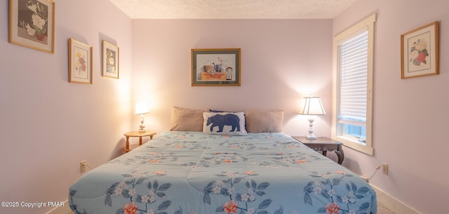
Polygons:
M321 152L321 154L323 154L324 156L326 156L328 151L329 152L334 151L335 154L337 154L338 163L342 165L344 159L342 142L338 142L326 137L316 138L316 140L309 140L306 137L292 137L292 138L295 138L295 140L302 142L304 145L307 145L307 147L314 149L316 152Z

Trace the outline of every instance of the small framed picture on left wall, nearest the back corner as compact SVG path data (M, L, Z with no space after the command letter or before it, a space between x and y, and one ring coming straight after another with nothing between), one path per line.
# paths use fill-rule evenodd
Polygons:
M102 41L102 74L103 76L119 78L119 47Z

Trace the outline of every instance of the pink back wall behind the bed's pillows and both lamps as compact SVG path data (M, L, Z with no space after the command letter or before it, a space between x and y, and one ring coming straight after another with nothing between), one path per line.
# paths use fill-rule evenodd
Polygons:
M192 87L192 48L241 48L241 86ZM300 99L321 96L331 112L331 63L331 20L133 20L134 100L152 103L145 121L158 133L180 106L283 109L284 131L305 135ZM329 121L316 119L316 135L330 135Z

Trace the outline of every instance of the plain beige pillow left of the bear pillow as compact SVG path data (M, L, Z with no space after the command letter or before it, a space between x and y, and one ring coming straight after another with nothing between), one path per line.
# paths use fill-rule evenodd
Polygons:
M208 111L205 109L173 107L170 131L203 131L203 112Z

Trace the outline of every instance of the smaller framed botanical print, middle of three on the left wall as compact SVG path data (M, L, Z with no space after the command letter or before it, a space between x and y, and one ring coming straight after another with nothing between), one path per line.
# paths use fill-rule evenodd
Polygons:
M92 84L92 46L69 39L69 82Z

